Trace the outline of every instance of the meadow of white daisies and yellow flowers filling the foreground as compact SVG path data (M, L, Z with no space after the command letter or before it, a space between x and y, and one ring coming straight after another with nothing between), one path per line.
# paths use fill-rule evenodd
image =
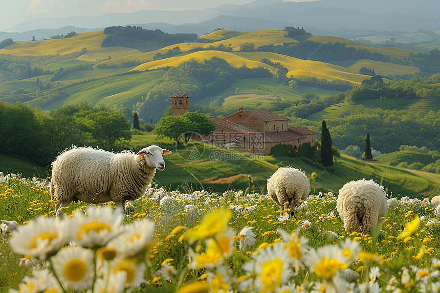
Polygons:
M347 234L331 191L290 216L266 195L168 191L73 203L55 218L49 182L0 181L5 292L437 292L440 208L390 198L371 235ZM121 224L123 222L123 224ZM19 266L19 263L21 266Z

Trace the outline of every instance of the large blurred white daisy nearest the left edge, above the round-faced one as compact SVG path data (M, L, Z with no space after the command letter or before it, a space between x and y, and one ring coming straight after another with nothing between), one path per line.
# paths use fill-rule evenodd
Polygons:
M13 252L33 256L40 261L56 253L67 242L65 222L39 216L20 225L9 240Z

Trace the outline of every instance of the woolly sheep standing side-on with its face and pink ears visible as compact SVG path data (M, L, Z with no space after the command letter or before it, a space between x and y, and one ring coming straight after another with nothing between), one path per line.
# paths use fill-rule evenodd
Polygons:
M163 171L163 154L171 151L151 145L137 154L108 152L91 147L72 147L52 163L51 199L57 201L56 216L73 200L89 204L114 201L124 213L125 200L145 194L156 169Z

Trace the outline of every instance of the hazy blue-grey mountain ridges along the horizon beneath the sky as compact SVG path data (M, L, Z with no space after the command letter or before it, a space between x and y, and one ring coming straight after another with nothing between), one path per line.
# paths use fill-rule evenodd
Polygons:
M100 17L36 18L11 27L8 33L0 33L0 40L31 40L32 36L36 39L50 38L52 35L69 32L70 29L65 28L75 27L70 31L83 32L118 25L136 25L168 33L196 33L199 36L218 27L248 31L294 26L304 27L313 34L362 38L375 36L382 31L414 32L438 28L438 11L440 1L432 0L419 0L417 5L412 0L256 0L244 5L222 5L200 10L141 10L134 13L108 13Z

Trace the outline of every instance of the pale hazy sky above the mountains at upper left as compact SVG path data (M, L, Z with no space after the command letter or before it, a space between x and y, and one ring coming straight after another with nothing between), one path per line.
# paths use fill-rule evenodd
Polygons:
M222 4L245 4L253 0L0 0L0 31L38 17L105 13L148 9L187 10ZM295 2L307 0L294 0Z

